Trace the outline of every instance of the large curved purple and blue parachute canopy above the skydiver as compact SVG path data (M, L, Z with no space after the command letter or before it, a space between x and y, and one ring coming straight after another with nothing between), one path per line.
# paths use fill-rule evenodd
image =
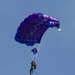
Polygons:
M59 21L51 16L42 13L33 13L21 22L15 35L15 40L19 43L33 46L40 43L45 31L51 27L59 29Z

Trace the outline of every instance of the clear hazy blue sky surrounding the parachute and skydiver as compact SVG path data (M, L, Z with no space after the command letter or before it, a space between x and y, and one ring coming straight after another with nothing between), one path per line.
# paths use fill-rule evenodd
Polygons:
M29 75L31 49L14 40L29 14L59 19L62 32L48 29L37 56L38 75L75 75L75 0L0 0L0 75ZM35 75L35 73L34 73Z

